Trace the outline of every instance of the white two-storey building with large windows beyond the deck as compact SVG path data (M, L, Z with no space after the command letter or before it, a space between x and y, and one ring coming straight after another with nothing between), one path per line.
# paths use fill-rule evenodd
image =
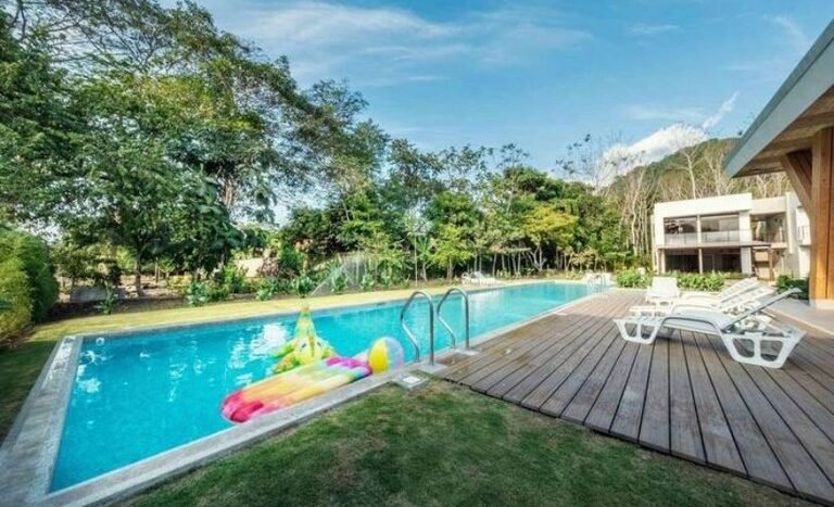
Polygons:
M807 277L809 229L794 192L769 199L737 193L657 203L652 217L655 270Z

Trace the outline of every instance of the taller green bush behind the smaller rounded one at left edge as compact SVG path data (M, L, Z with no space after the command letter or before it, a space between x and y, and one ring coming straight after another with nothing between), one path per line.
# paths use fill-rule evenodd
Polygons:
M31 319L42 320L58 301L58 281L47 243L26 232L8 231L0 236L0 261L20 261L26 275Z

